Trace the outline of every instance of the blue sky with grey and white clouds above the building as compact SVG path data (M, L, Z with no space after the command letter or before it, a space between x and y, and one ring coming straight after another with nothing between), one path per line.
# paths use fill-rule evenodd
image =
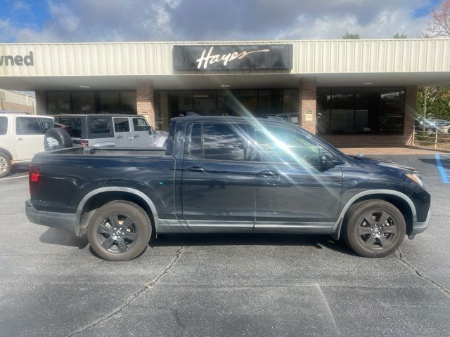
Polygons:
M418 37L439 0L0 0L0 43Z

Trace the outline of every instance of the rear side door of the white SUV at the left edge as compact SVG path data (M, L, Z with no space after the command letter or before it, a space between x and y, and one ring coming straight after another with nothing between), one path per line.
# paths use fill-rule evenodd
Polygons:
M29 161L34 154L44 151L44 129L37 117L15 117L14 133L17 160Z

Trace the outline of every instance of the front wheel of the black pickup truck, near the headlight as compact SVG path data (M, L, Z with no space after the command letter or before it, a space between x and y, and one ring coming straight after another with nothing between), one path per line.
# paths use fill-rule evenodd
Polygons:
M403 242L406 223L399 209L385 200L366 200L350 206L342 237L356 253L381 258Z

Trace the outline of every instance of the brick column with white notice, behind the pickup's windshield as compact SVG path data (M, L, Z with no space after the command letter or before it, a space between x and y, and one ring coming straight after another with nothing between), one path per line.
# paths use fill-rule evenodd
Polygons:
M299 86L300 119L302 128L316 133L316 78L302 77Z

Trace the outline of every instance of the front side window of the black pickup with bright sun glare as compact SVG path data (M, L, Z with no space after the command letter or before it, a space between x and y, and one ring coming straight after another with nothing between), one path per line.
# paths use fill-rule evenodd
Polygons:
M319 164L317 144L298 131L280 126L266 126L255 130L255 140L262 162Z

